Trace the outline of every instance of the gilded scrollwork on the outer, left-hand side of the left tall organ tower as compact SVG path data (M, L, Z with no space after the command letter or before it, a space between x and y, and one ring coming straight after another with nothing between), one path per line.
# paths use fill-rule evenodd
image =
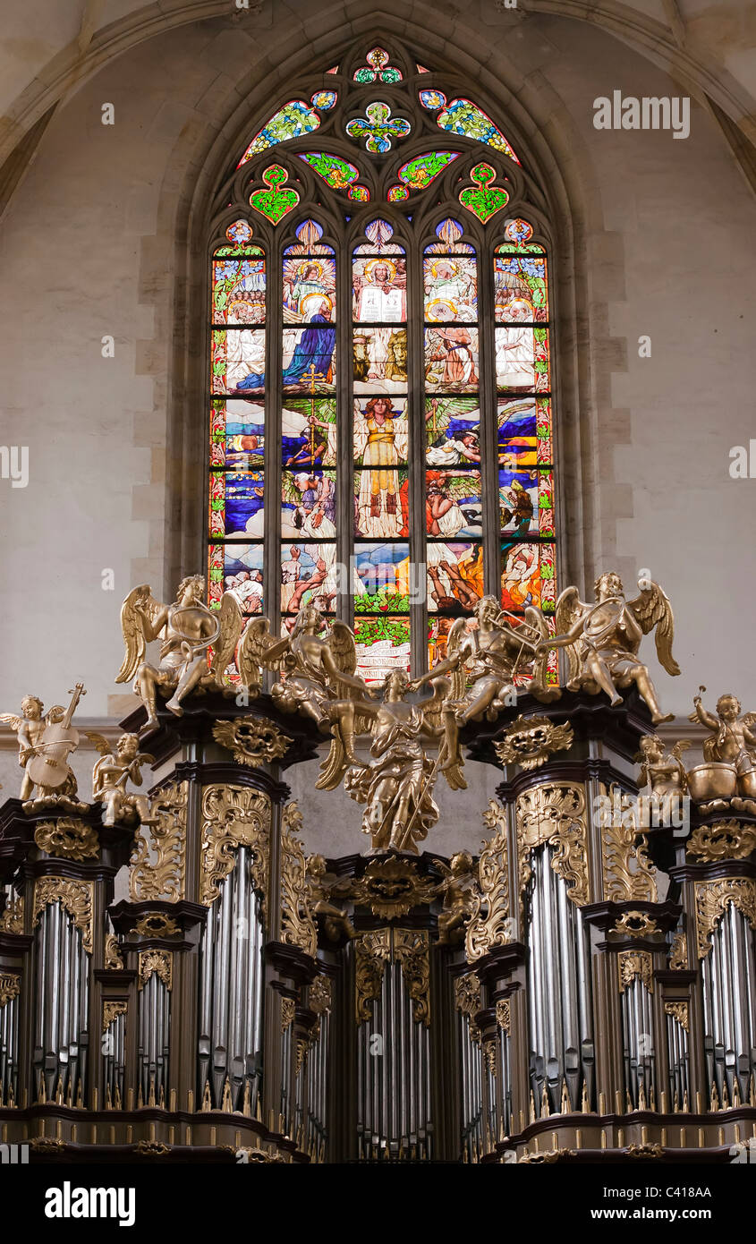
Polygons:
M162 898L178 903L185 897L188 799L189 782L172 782L152 802L152 824L137 831L129 877L134 902Z

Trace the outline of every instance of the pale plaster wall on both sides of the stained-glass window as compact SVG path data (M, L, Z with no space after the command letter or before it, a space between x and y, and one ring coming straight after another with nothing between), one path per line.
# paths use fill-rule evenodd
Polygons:
M468 27L475 21L465 14ZM489 15L480 35L489 70L516 49L522 73L552 100L550 133L571 136L584 170L588 296L578 311L592 331L587 407L598 425L587 464L601 527L592 539L628 588L633 571L649 566L669 591L684 674L659 673L664 705L686 715L704 682L712 698L734 687L754 708L756 480L727 474L730 447L747 443L752 427L752 192L695 106L684 142L593 129L599 95L679 93L608 34L532 16L517 25L515 45ZM0 481L2 710L26 692L63 700L83 679L82 712L103 717L119 690L121 601L136 582L163 588L172 205L185 193L193 133L231 91L233 50L241 73L279 37L275 27L254 41L205 22L112 62L58 111L0 223L1 440L27 444L31 455L26 489ZM114 127L99 123L106 101ZM113 360L101 356L106 333L116 338ZM650 360L638 357L642 333L652 337ZM113 592L101 588L106 567ZM0 759L12 775L4 794L15 794L12 755ZM303 776L296 786L306 791ZM481 775L471 782L480 810L491 785ZM438 850L461 815L441 799ZM312 805L318 815L323 807ZM358 809L348 807L357 825Z

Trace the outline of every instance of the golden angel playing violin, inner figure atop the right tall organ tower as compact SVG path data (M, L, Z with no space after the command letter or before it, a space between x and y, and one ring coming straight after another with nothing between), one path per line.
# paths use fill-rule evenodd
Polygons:
M451 673L451 695L456 702L456 720L460 725L476 722L485 714L492 722L501 708L516 702L515 674L530 662L532 677L521 687L540 700L557 699L562 693L557 687L546 685L546 643L548 627L540 610L528 608L525 622L515 629L505 621L505 613L495 596L484 596L474 610L477 622L468 629L468 620L458 618L449 631L446 657L429 674L414 684L440 674ZM468 680L471 687L468 690Z

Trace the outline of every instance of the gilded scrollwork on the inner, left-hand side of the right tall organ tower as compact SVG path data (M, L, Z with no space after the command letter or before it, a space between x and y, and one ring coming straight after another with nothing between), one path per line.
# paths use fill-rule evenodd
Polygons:
M510 876L506 845L506 812L490 800L482 815L494 836L482 843L477 865L479 891L474 894L465 934L465 958L475 963L496 945L512 940L510 916Z

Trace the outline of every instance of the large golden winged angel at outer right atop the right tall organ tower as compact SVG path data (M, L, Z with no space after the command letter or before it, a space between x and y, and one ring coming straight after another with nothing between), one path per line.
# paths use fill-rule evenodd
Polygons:
M599 575L594 591L596 603L587 605L581 601L577 587L565 588L556 608L558 633L540 641L536 651L567 649L569 690L584 688L592 695L603 690L612 704L622 704L617 688L634 683L650 709L654 725L671 722L674 713L662 712L648 667L638 661L643 636L655 628L659 661L668 674L680 673L671 654L674 617L666 595L652 582L642 587L635 600L625 601L622 580L614 572Z

